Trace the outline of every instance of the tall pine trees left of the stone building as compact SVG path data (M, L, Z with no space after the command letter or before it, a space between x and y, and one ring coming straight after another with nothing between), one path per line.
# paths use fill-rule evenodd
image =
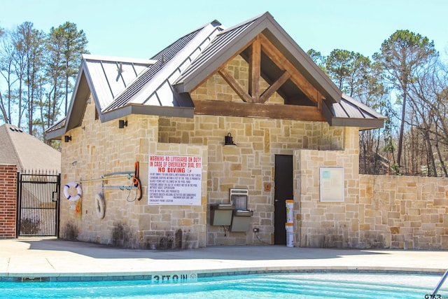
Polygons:
M66 113L81 55L88 53L85 33L71 22L48 34L31 22L0 31L0 85L7 88L0 98L0 118L43 136Z

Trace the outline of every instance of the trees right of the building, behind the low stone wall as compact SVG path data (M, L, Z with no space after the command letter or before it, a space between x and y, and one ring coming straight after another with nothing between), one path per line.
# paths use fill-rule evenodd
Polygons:
M383 129L360 133L365 173L376 172L375 163L384 162L384 155L394 174L422 174L419 169L426 167L424 175L437 175L437 169L448 176L448 67L438 60L433 41L398 30L381 44L372 61L342 49L327 57L314 49L307 53L342 92L387 117ZM438 146L441 142L443 147Z

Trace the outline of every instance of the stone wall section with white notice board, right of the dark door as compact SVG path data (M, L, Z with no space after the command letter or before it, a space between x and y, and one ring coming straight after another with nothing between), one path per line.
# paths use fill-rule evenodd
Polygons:
M345 128L344 151L295 151L295 246L358 248L358 130ZM344 169L344 202L321 202L320 167Z

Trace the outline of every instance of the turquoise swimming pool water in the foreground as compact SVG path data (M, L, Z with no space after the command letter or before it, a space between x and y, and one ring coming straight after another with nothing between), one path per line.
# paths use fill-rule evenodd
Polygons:
M0 282L1 298L425 298L442 275L317 272L151 281ZM448 288L437 292L448 297ZM426 297L429 298L429 297Z

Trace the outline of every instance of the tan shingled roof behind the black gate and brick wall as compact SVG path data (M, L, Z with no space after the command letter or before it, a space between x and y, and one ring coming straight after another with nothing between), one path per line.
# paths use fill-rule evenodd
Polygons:
M18 169L61 170L61 153L15 125L0 127L0 164Z

